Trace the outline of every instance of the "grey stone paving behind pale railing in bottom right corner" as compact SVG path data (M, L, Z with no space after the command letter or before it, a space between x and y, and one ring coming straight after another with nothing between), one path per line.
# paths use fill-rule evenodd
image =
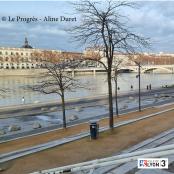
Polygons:
M165 131L153 138L147 139L127 150L122 151L119 154L135 152L138 150L145 150L148 148L155 148L163 145L174 144L174 129ZM117 154L116 154L117 155ZM165 158L165 157L164 157ZM169 166L174 162L174 155L167 156L169 159ZM121 165L109 166L105 168L99 168L94 171L93 174L171 174L172 167L169 170L140 170L137 168L137 161L128 162Z

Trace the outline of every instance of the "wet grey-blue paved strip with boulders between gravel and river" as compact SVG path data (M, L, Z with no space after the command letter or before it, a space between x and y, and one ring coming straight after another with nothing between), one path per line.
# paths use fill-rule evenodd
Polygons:
M165 92L165 94L164 94L164 92ZM159 99L158 102L149 103L148 102L148 98L149 98L148 95L152 95L153 93L158 93L159 96L161 96L161 99ZM143 95L147 95L147 97L142 98L142 108L151 107L152 105L157 106L157 105L161 105L161 104L165 104L165 103L169 103L169 102L174 101L174 99L172 97L172 96L174 96L173 95L173 90L171 90L171 89L170 90L165 89L165 90L148 91L148 92L144 93ZM125 94L125 96L126 96L126 94ZM162 97L162 96L170 96L170 97ZM108 106L106 104L107 101L103 101L103 100L100 101L100 99L101 99L100 97L98 98L99 99L98 102L96 102L96 100L93 100L93 102L92 102L92 100L90 98L90 101L88 101L88 102L86 101L86 103L76 105L79 108L82 108L82 111L80 111L80 112L75 111L75 108L73 108L75 106L73 106L73 104L71 105L71 107L69 106L68 109L67 109L67 125L72 126L72 125L75 125L75 124L81 124L81 123L84 123L84 122L88 122L91 118L93 119L94 117L95 117L95 119L102 119L102 118L108 117L108 113L107 113L108 112ZM146 101L145 98L147 99L147 102L145 102ZM151 98L153 98L153 95L151 96ZM125 99L123 99L123 100L125 100ZM127 97L127 99L128 99L128 97ZM133 101L129 101L128 103L130 105L132 105L132 102ZM126 107L128 107L127 109L125 109L125 108L124 109L123 108L119 109L120 114L124 114L124 113L127 113L127 112L138 109L136 107L138 104L133 102L134 103L133 106L130 107L128 103L125 105ZM32 108L33 107L32 105L29 106L29 108L28 108L28 106L22 105L23 108L21 108L21 110L20 110L19 106L18 107L17 106L12 107L12 110L13 109L17 109L17 110L19 109L19 111L17 113L15 113L16 111L13 111L12 112L13 114L12 114L11 111L10 111L10 107L7 107L5 109L9 113L4 114L3 112L0 112L0 117L3 117L3 118L11 117L11 116L12 117L17 116L15 118L11 118L11 120L10 120L10 118L9 118L9 120L8 119L2 120L1 125L2 125L2 127L4 127L4 129L6 131L6 134L5 135L0 135L0 142L15 139L15 138L19 138L19 137L29 136L29 135L32 135L32 134L44 133L46 131L61 128L62 124L58 123L58 121L55 122L55 118L56 118L56 120L58 120L58 118L62 119L61 115L57 116L58 112L56 110L58 109L58 107L50 107L49 106L50 103L47 103L47 104L48 104L48 107L44 107L44 109L46 109L46 111L42 111L43 108L37 108L34 111L33 108ZM121 103L120 105L123 105L123 104L124 103ZM36 104L36 106L37 105L39 107L40 104ZM55 105L56 105L56 102L55 102ZM89 106L93 106L93 107L89 107ZM69 108L71 108L71 109L69 109ZM54 114L56 114L56 117L53 119L54 121L52 120L52 121L49 121L49 122L47 121L46 122L44 120L37 119L37 117L34 117L34 116L33 117L28 117L28 116L30 116L32 114L36 114L36 113L39 114L39 113L42 113L42 112L53 112L52 109L54 111L56 111L56 113L54 113ZM94 109L94 111L93 111L93 109ZM91 112L91 110L92 110L92 112ZM61 113L61 112L59 112L59 113ZM25 116L25 115L26 115L26 117L22 117L22 116ZM69 118L71 118L71 116L73 116L73 115L77 115L79 117L79 119L74 120L74 121L69 121ZM18 116L20 116L20 117L18 117ZM53 118L51 116L51 114L50 114L50 116L46 116L46 119L51 119L51 118ZM22 120L23 120L23 122L22 122ZM35 122L39 122L42 125L42 128L41 129L33 129L33 125L34 125ZM13 132L8 131L8 126L11 125L12 123L14 123L15 125L20 125L21 130L13 131Z

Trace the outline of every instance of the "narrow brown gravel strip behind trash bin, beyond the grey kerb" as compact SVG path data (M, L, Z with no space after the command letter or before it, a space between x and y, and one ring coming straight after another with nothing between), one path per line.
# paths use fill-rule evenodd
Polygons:
M151 113L163 111L165 109L169 109L174 107L174 105L164 106L164 107L157 107L157 108L150 108L145 109L142 112L131 112L128 114L123 114L118 117L114 117L114 123L126 121L133 118L139 118ZM108 126L108 118L102 119L99 121L100 127ZM46 143L49 141L66 138L68 136L76 135L79 133L83 133L89 131L89 124L88 123L82 123L79 125L68 127L67 129L57 129L53 131L49 131L47 133L38 134L35 136L20 138L14 141L9 141L6 143L0 143L0 152L1 153L7 153L15 150L19 150L22 148L27 148L31 146L35 146L41 143Z

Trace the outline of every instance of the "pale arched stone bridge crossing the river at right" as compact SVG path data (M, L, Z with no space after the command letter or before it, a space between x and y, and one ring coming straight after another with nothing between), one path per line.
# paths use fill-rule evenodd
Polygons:
M138 66L122 66L120 71L138 72ZM142 65L141 73L174 73L174 65Z

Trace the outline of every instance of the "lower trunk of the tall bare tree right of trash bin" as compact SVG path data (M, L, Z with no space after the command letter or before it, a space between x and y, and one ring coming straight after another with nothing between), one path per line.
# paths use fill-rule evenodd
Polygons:
M112 83L111 83L111 70L108 70L108 94L109 94L109 127L114 127L113 123L113 102L112 102Z

